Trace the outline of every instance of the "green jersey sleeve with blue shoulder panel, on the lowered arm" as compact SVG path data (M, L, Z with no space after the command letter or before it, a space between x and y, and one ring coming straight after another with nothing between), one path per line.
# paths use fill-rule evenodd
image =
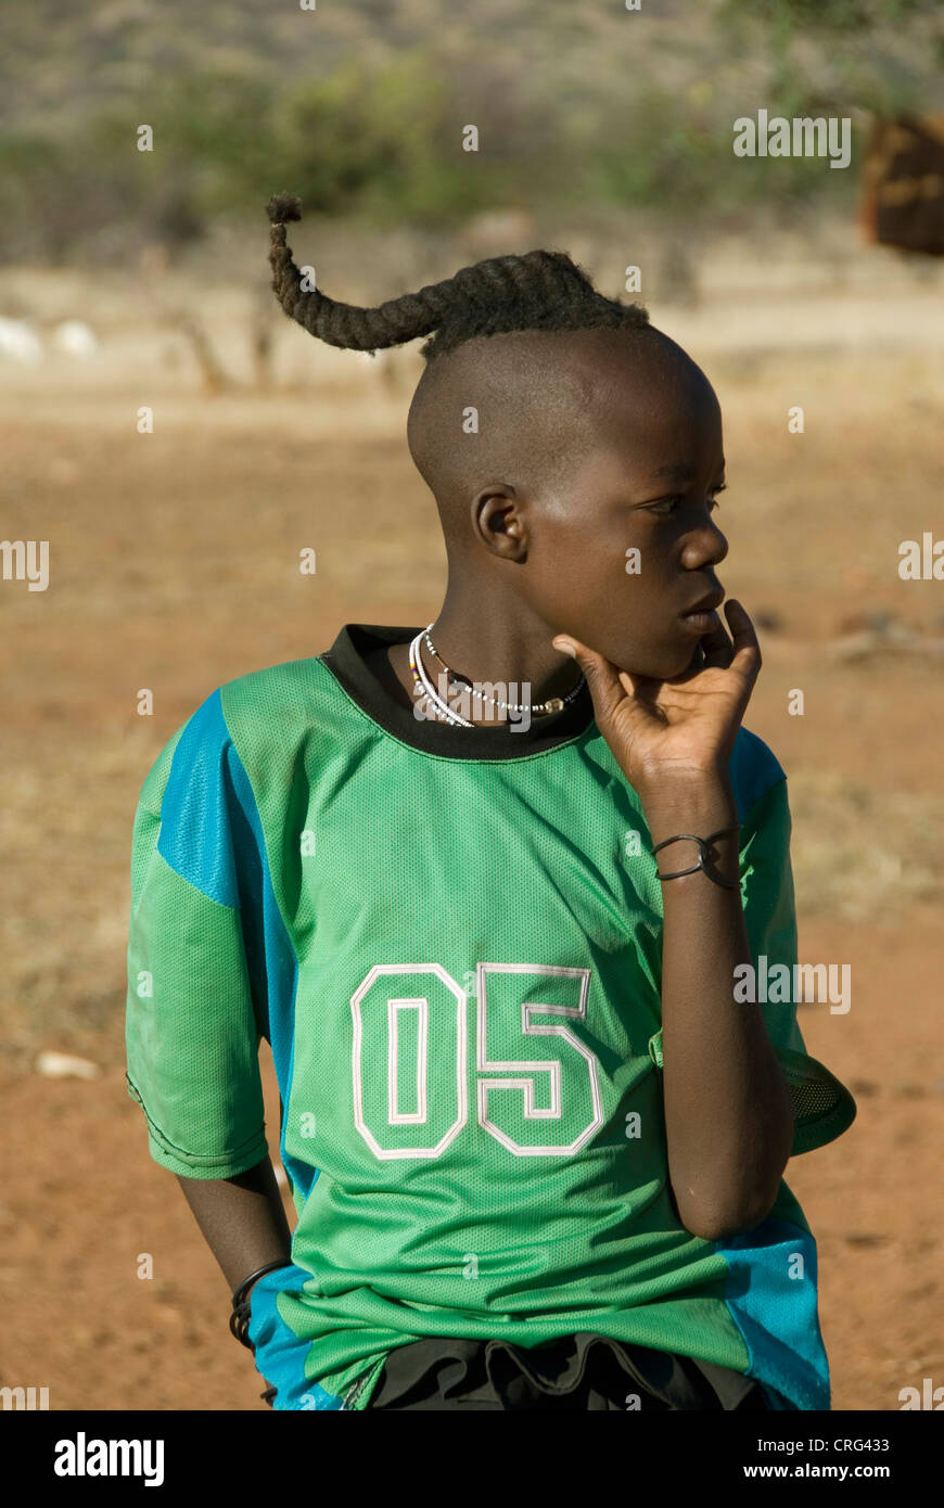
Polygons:
M127 1087L151 1157L184 1178L232 1178L268 1151L240 772L216 692L161 751L134 817Z

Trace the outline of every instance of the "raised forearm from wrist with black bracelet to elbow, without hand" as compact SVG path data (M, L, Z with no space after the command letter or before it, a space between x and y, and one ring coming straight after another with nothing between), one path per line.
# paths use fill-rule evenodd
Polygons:
M664 789L645 810L653 843L734 826L718 774ZM715 840L718 870L737 879L737 832ZM697 860L692 843L660 849L671 873ZM697 1235L751 1229L768 1214L793 1140L783 1071L760 1006L734 1001L734 968L751 964L740 890L697 870L665 881L662 1059L668 1166L679 1214Z

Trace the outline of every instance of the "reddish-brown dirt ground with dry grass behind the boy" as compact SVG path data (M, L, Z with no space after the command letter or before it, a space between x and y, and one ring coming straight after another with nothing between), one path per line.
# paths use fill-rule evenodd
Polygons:
M837 287L810 293L798 264L754 288L752 320L730 259L703 308L651 309L725 415L719 576L763 624L745 724L790 780L801 959L852 965L851 1010L802 1006L801 1025L858 1120L787 1169L819 1243L838 1410L944 1384L944 659L881 639L890 621L944 638L944 582L897 575L902 540L944 535L942 300L939 277L875 255L872 312L854 247ZM279 336L293 359L296 335ZM264 1407L223 1277L124 1089L134 802L217 685L318 653L347 621L428 621L445 585L403 437L418 368L386 380L359 362L211 400L163 339L122 327L121 356L116 333L81 369L0 365L3 532L48 538L51 570L45 593L0 584L0 1383L47 1386L51 1408ZM804 434L787 433L793 404ZM870 624L872 650L837 653ZM42 1050L98 1077L42 1077ZM268 1063L265 1083L274 1145Z

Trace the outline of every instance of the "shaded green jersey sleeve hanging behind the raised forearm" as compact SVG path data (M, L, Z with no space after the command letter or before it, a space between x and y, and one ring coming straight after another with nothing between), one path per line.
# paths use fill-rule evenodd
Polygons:
M765 790L745 814L740 832L740 897L751 946L754 977L766 958L768 974L778 964L789 968L790 988L783 1001L762 1000L765 1022L793 1102L792 1157L811 1152L843 1134L855 1119L855 1101L822 1063L807 1053L799 1022L793 967L796 959L796 906L790 864L790 802L786 777ZM780 994L780 991L771 991Z

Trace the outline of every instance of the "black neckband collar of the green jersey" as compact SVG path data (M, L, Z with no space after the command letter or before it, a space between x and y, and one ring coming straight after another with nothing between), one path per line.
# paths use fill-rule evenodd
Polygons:
M567 743L593 725L593 697L587 683L562 712L534 718L529 727L517 731L513 731L510 722L460 728L448 722L415 718L380 685L363 656L389 644L409 644L421 627L422 624L403 629L374 623L345 623L330 650L318 656L351 701L401 743L445 759L525 759Z

